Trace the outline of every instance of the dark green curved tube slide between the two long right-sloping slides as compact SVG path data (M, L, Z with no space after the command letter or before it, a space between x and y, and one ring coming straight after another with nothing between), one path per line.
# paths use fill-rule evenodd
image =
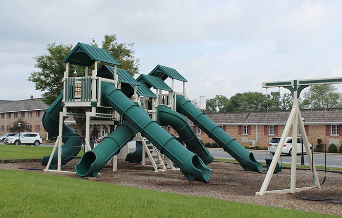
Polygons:
M204 147L203 142L197 138L187 119L181 114L167 106L158 105L157 122L162 126L171 125L178 133L179 139L187 145L187 149L195 153L205 164L213 162L214 158Z

